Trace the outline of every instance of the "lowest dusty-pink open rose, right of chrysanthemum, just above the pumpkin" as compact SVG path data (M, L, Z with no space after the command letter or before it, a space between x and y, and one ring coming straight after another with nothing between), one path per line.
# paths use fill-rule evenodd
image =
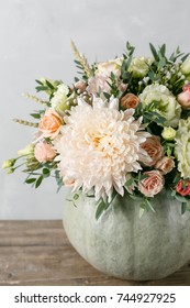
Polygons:
M158 170L145 172L143 175L147 176L138 183L138 190L146 197L154 197L163 190L165 179Z

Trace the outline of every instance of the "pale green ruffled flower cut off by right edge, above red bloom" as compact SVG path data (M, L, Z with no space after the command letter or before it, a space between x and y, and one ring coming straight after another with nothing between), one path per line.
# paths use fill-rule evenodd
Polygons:
M176 134L175 155L182 178L190 178L190 118L179 121Z

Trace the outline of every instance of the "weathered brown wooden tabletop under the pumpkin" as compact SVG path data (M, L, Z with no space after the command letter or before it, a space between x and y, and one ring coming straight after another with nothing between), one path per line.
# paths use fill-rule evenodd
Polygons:
M160 280L121 280L83 261L66 239L62 221L0 221L0 285L190 286L190 265Z

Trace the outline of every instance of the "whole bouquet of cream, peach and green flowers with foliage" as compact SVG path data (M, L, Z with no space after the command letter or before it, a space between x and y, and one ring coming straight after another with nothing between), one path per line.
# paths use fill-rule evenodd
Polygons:
M149 44L150 57L121 57L89 65L71 42L80 78L36 80L46 99L29 122L34 140L8 160L8 174L24 165L26 184L37 188L54 176L58 189L72 188L97 200L97 218L116 195L141 200L141 216L154 211L163 189L190 210L190 58L177 48ZM22 161L22 163L20 163Z

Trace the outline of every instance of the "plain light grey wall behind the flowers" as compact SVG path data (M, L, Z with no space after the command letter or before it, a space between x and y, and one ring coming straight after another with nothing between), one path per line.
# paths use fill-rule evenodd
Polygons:
M148 54L149 42L188 52L189 11L188 0L0 0L0 163L32 139L33 130L12 122L36 108L21 94L34 94L42 76L74 80L70 38L89 62L121 55L126 41L136 55ZM21 172L0 172L0 219L62 218L66 190L23 182Z

